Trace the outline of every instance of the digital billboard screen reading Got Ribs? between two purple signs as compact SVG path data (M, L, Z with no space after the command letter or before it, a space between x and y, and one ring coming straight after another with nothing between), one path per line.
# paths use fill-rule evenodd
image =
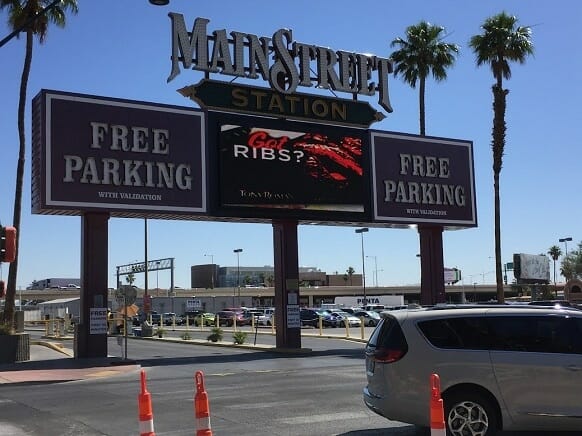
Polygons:
M364 212L365 130L238 116L215 128L221 207Z

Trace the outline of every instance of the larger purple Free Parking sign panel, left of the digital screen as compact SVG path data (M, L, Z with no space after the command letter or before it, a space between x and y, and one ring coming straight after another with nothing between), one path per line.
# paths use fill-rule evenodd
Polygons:
M50 90L33 106L33 213L206 212L200 109Z

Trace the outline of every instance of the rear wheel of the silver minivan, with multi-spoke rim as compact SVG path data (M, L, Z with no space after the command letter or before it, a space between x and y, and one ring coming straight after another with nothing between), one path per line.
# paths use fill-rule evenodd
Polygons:
M478 392L459 391L444 399L447 434L492 436L498 429L495 406Z

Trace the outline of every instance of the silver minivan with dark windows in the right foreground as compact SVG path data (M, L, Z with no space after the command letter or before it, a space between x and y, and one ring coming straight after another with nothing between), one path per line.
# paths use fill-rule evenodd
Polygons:
M365 347L372 411L428 427L436 373L447 434L580 430L581 311L497 305L382 316Z

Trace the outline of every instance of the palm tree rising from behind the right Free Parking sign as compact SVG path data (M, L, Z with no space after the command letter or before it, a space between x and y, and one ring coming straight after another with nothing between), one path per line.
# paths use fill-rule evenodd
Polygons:
M394 76L402 76L411 88L418 87L420 109L420 134L425 135L425 104L426 78L432 73L437 81L447 78L447 67L455 63L455 55L459 46L442 41L444 27L421 21L417 25L406 28L406 39L396 38L391 47L400 47L390 55L394 63Z

